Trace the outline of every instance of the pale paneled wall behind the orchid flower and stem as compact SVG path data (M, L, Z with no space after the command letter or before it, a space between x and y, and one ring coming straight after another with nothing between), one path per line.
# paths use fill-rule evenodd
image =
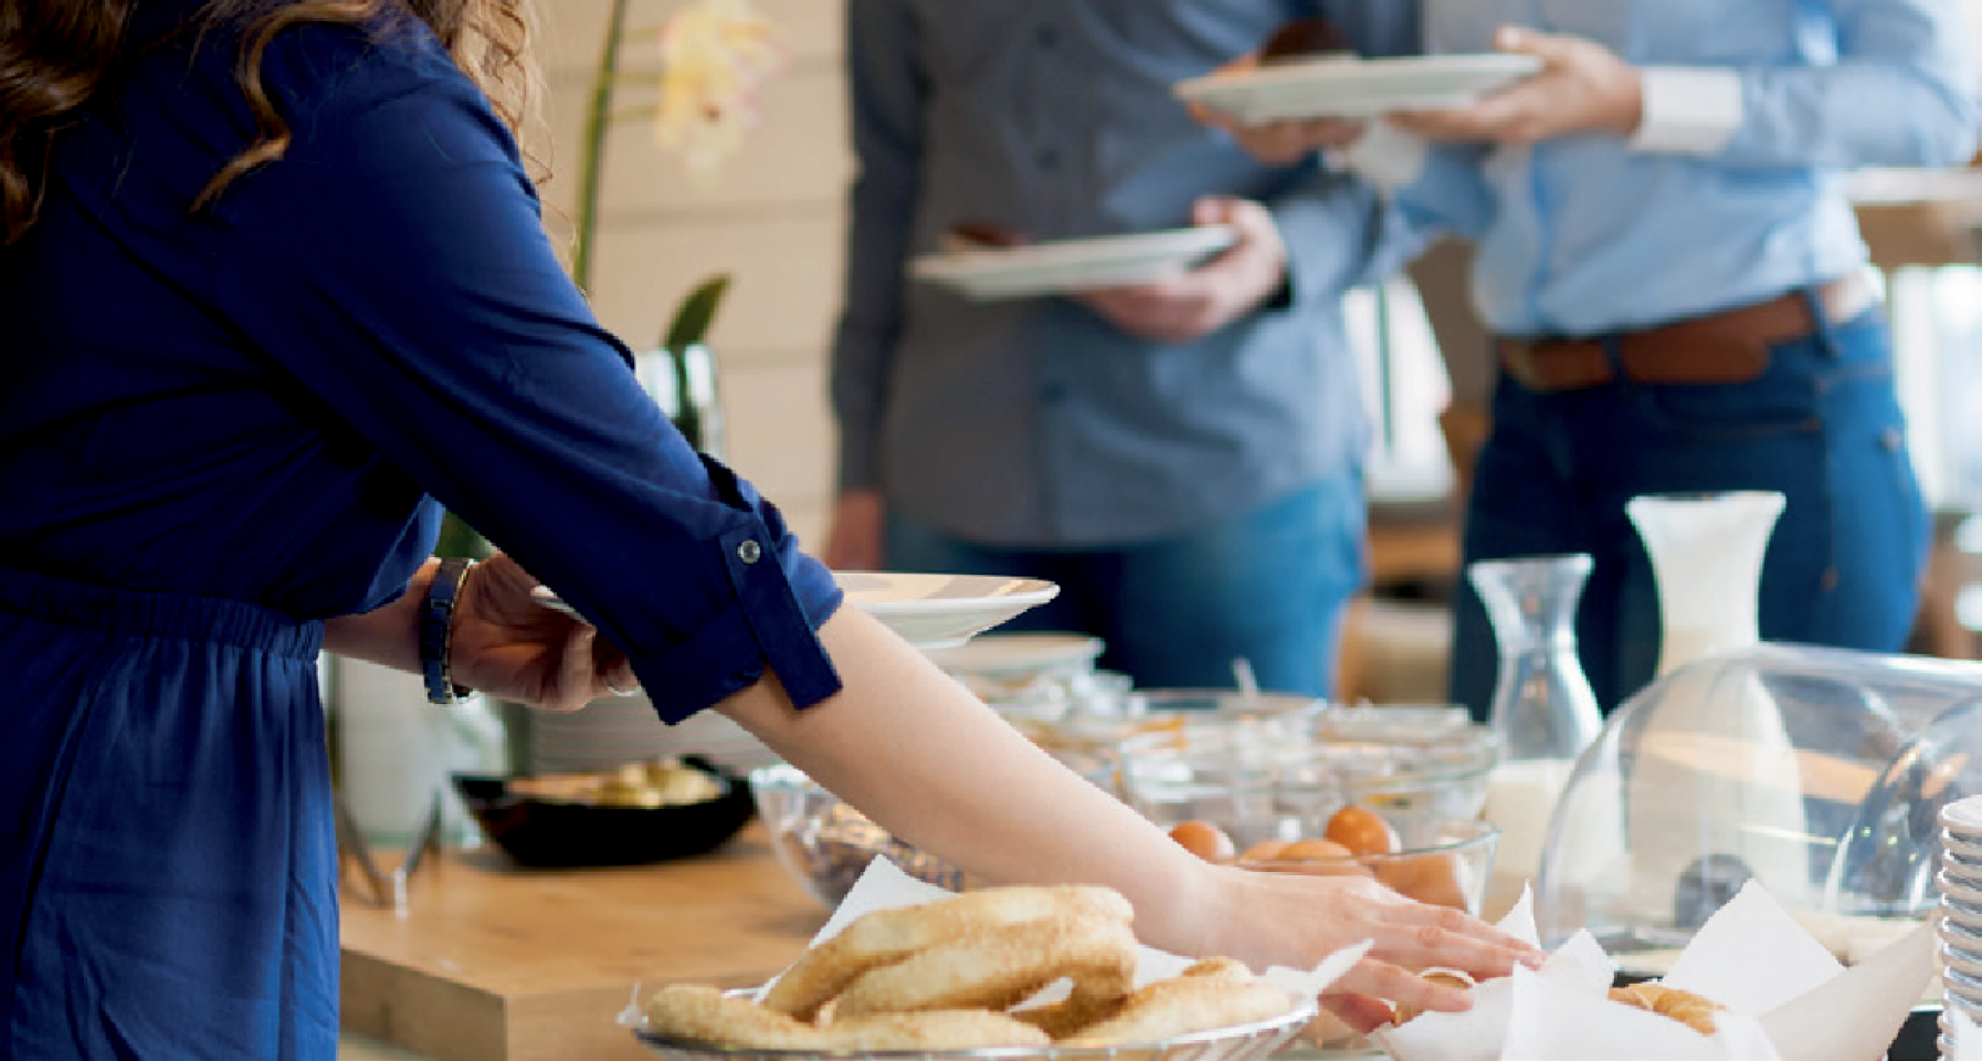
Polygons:
M549 99L547 228L569 244L577 153L608 0L545 0ZM632 26L658 26L672 0L634 0ZM712 345L721 371L729 462L819 545L832 492L826 343L838 307L844 190L852 175L840 77L838 0L759 0L789 61L761 123L710 180L664 153L650 125L616 125L606 149L593 305L632 347L660 337L676 299L712 272L735 276ZM622 65L646 67L650 46Z

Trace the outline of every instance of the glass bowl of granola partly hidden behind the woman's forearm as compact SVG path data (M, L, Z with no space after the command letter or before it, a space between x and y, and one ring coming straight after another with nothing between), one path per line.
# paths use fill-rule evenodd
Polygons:
M777 863L826 908L846 898L876 855L930 884L949 890L973 884L949 863L896 839L793 766L753 769L749 791Z

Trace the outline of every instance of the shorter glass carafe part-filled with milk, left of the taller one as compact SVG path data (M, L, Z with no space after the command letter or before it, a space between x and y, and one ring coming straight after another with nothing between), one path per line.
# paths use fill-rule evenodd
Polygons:
M1542 865L1548 819L1576 756L1603 718L1576 658L1576 603L1590 555L1483 559L1467 577L1486 605L1500 648L1488 726L1500 764L1486 787L1485 817L1500 827L1494 875L1532 879Z

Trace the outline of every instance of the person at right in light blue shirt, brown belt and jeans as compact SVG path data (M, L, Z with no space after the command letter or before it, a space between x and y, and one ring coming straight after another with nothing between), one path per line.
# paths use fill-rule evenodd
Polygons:
M1927 512L1843 180L1974 151L1956 0L1433 0L1431 52L1540 71L1469 107L1282 123L1257 153L1340 149L1413 218L1477 244L1502 373L1465 559L1584 551L1578 637L1605 708L1655 670L1637 494L1776 490L1772 641L1897 650ZM1453 692L1485 714L1494 647L1461 587Z

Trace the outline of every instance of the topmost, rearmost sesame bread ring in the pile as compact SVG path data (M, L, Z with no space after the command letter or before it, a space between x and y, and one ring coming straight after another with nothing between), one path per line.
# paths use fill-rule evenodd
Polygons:
M900 962L973 926L1011 926L1082 914L1126 926L1134 918L1134 908L1114 888L1062 884L983 888L939 902L874 910L805 952L765 992L763 1007L811 1019L860 974Z

